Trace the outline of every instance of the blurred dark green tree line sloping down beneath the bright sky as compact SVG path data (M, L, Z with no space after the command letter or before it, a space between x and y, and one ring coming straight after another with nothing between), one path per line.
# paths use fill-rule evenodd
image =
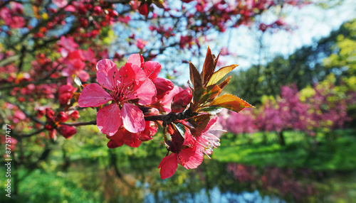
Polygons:
M341 77L348 86L356 87L356 21L344 23L330 36L318 40L310 46L296 50L285 58L275 57L267 65L253 65L248 70L236 72L226 91L251 104L261 103L261 96L281 93L281 87L296 84L303 89L315 82L323 81L330 73Z

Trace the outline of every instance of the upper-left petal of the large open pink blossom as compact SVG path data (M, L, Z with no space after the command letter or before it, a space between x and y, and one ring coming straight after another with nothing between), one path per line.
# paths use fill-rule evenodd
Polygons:
M118 70L115 62L108 59L100 60L96 65L96 69L98 70L96 73L98 83L106 89L113 90L118 79Z

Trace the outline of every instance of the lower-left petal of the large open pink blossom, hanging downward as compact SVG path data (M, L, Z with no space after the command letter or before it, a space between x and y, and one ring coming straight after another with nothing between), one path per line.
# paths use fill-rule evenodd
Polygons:
M100 109L96 114L96 124L100 132L115 135L122 124L119 106L115 103Z

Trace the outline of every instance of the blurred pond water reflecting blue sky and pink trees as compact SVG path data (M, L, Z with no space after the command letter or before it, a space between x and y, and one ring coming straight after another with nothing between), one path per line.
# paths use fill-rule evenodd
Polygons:
M135 192L121 199L137 202L335 202L356 197L356 174L315 172L204 160L196 170L179 168L161 180L155 172L136 173ZM125 177L124 177L125 178ZM134 194L132 196L132 194Z

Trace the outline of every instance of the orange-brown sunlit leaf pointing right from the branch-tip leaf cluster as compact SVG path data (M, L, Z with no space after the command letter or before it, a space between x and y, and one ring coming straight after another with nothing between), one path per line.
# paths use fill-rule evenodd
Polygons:
M239 112L244 108L254 108L251 104L232 94L224 94L214 99L209 106L221 106L231 111Z

